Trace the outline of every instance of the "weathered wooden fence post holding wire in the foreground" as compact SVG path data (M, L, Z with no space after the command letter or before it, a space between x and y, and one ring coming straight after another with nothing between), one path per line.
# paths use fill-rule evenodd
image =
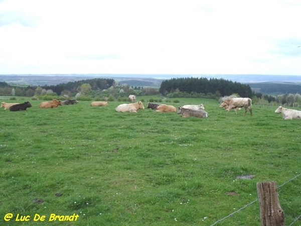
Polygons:
M277 183L257 182L261 226L285 226L284 212L280 207Z

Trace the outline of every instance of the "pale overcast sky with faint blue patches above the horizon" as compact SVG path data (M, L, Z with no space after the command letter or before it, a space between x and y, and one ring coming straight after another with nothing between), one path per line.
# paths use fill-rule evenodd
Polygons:
M301 1L0 0L0 74L52 73L301 75Z

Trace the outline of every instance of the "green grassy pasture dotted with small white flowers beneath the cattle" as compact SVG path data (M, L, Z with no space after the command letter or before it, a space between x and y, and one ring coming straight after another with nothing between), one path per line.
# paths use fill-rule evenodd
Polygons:
M146 107L149 98L137 100ZM258 181L281 185L300 173L301 121L283 120L275 106L254 104L251 117L212 99L168 100L203 103L209 118L115 112L121 102L0 109L0 224L211 225L254 201ZM278 189L287 225L301 214L300 187L297 177ZM49 221L74 213L76 221ZM259 203L216 225L260 225Z

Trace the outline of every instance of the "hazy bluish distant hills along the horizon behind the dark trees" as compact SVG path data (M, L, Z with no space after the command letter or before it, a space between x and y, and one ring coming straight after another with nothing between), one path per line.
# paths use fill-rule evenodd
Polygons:
M301 76L251 74L6 74L0 81L11 85L57 85L83 79L112 78L120 84L140 87L160 87L171 78L205 77L222 78L250 85L255 92L267 94L301 93Z

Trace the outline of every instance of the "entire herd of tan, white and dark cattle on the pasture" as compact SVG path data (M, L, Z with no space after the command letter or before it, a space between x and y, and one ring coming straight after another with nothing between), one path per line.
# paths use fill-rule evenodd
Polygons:
M144 105L141 101L135 102L136 96L129 95L129 101L131 103L122 103L115 108L117 112L133 112L136 113L139 109L144 109ZM39 104L40 108L55 108L59 105L70 105L78 103L77 100L57 100L53 99L51 101L44 101ZM91 106L107 106L108 101L93 101L90 104ZM28 107L32 107L29 101L24 103L7 103L2 102L1 107L4 109L10 109L11 111L19 111L26 110ZM240 108L244 108L246 115L247 111L250 111L250 115L252 116L252 100L250 98L230 98L224 100L220 107L223 107L225 110L229 112L229 110L234 109L235 114L237 114L237 110ZM178 112L178 114L182 114L182 117L197 117L197 118L207 118L209 116L208 112L205 111L205 107L203 104L199 105L184 105L179 106L178 109L173 105L168 104L158 104L158 103L148 103L147 108L151 108L156 110L157 112ZM281 113L283 119L291 120L291 119L301 119L301 111L288 109L282 106L279 106L275 113Z

